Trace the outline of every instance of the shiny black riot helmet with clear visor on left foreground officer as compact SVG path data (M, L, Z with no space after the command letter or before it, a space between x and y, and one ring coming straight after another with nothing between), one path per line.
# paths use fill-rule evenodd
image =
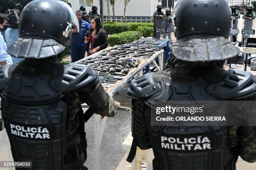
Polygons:
M79 22L67 3L59 0L33 0L20 15L20 37L7 51L15 57L56 56L70 45L72 28Z

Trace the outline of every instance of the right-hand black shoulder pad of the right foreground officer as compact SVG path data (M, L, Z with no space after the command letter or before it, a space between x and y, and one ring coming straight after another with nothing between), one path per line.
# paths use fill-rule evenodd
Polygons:
M210 84L207 92L222 99L243 99L256 94L256 79L251 73L228 70L217 84Z

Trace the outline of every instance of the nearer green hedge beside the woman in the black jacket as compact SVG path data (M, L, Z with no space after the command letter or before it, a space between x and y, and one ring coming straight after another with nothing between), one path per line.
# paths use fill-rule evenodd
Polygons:
M109 46L122 45L126 43L131 43L135 40L141 38L141 33L138 31L125 31L119 34L113 34L108 36L108 44Z

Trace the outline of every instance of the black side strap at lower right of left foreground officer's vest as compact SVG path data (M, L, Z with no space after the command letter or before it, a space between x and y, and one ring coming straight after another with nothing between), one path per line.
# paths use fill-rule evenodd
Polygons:
M65 164L78 160L79 156L84 152L84 140L72 150L69 150L68 153L64 156Z

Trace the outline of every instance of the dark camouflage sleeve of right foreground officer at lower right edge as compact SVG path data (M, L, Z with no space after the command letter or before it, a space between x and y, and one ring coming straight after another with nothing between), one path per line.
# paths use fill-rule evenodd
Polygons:
M238 155L247 162L256 162L256 126L231 127L229 144L237 147Z

